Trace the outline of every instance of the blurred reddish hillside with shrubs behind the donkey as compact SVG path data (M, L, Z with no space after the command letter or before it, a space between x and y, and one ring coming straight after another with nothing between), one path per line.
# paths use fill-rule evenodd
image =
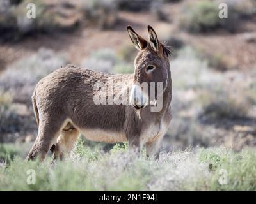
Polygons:
M28 3L35 19L26 17ZM218 17L220 3L227 19ZM255 147L255 0L0 0L0 159L3 143L27 151L36 138L31 94L40 78L68 63L133 72L127 25L145 38L152 25L172 47L173 119L163 149Z

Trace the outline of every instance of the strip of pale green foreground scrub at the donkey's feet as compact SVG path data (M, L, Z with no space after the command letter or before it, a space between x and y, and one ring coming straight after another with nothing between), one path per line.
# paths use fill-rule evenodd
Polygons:
M26 146L26 147L25 147ZM23 152L20 152L20 150ZM24 161L28 145L3 144L0 155L1 191L255 191L256 150L235 153L223 148L163 153L155 161L127 154L127 144L109 152L79 140L64 161L51 164ZM35 170L36 184L27 184L28 170ZM220 170L227 185L220 185Z

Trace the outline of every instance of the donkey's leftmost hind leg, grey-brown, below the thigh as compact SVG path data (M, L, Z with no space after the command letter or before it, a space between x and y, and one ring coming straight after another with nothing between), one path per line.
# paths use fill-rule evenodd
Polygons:
M33 144L33 147L28 153L26 160L35 159L36 156L40 156L40 160L44 160L47 152L49 151L52 143L56 141L58 135L60 135L61 124L56 121L40 121L38 126L38 136Z

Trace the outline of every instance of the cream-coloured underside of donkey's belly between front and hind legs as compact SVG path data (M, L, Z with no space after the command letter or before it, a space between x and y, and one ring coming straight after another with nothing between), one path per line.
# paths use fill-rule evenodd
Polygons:
M80 131L86 139L97 142L116 143L127 140L125 133L122 132L90 128L80 129Z

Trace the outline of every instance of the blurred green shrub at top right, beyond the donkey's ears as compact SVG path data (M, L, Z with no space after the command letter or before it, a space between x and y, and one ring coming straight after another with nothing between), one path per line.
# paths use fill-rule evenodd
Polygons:
M218 28L231 32L236 31L239 28L239 20L244 15L243 6L239 6L243 3L241 1L226 1L228 5L227 19L218 17L219 3L223 3L223 1L201 0L185 4L183 15L179 19L180 27L192 33L214 31ZM247 10L248 8L246 8Z

